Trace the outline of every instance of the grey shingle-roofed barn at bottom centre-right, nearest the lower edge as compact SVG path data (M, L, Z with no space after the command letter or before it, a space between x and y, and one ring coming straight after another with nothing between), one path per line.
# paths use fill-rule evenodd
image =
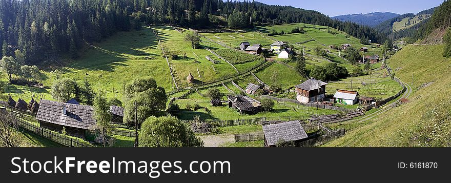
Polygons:
M278 143L292 141L298 143L308 138L298 120L263 126L264 147L276 147Z

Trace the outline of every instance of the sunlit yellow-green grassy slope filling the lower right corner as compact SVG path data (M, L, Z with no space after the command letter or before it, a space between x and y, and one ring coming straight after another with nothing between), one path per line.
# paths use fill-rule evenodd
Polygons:
M343 123L348 131L329 147L443 147L451 146L451 59L444 46L406 46L388 65L396 77L412 86L408 104L366 121ZM412 73L414 80L412 84ZM434 83L430 83L434 82ZM430 83L427 87L423 84Z

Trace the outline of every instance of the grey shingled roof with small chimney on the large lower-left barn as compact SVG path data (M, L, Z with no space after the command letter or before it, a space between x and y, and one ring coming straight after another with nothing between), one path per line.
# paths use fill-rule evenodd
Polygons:
M64 113L66 108L66 113ZM94 108L59 101L41 100L36 119L67 127L93 130L95 126Z

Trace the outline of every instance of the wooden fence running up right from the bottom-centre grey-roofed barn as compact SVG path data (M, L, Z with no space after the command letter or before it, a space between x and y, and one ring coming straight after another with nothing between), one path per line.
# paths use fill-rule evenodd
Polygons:
M288 147L318 147L326 143L329 143L335 138L344 136L345 133L346 131L344 129L339 129L336 131L327 132L326 134L321 135L319 137L315 137L312 139L301 141L299 143L295 143L293 145L289 145Z

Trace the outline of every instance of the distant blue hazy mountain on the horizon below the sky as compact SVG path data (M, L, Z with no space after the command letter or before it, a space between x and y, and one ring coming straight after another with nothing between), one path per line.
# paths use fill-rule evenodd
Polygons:
M340 15L340 16L334 16L333 19L339 19L340 21L349 21L361 25L367 25L374 27L387 19L391 19L394 17L399 16L399 14L396 13L390 13L390 12L373 12L368 14L352 14L352 15Z

